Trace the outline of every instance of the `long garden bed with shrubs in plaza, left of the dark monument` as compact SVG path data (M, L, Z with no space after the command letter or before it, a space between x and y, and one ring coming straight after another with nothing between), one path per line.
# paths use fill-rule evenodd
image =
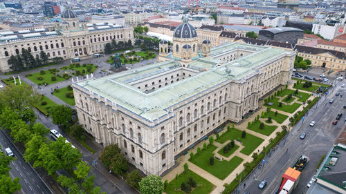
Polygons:
M93 64L70 64L69 66L63 66L60 70L51 68L48 70L40 70L33 74L28 73L26 77L33 81L37 85L49 85L60 81L71 79L74 76L84 76L91 74L98 68Z

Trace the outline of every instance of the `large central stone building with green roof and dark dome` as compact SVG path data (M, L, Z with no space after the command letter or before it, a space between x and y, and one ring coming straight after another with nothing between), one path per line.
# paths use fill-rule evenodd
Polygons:
M226 43L197 49L197 31L184 20L172 52L159 44L159 62L74 83L80 124L103 145L118 144L145 174L161 175L175 158L227 121L240 122L260 97L291 80L295 52Z

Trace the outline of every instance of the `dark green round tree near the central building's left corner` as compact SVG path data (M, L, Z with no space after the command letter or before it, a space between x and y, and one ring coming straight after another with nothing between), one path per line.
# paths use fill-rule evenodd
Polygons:
M73 122L73 114L74 110L64 105L57 105L51 107L50 115L53 120L53 124L63 126L64 128L69 128L69 126L71 126Z

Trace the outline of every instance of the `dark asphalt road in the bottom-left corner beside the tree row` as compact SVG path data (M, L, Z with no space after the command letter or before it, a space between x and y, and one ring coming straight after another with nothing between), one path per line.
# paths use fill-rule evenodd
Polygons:
M35 173L35 170L25 162L21 154L10 142L10 139L1 130L0 132L1 147L10 148L15 155L15 160L10 163L10 176L12 178L19 177L19 184L21 184L21 193L26 194L49 194L51 191L47 188L41 178Z

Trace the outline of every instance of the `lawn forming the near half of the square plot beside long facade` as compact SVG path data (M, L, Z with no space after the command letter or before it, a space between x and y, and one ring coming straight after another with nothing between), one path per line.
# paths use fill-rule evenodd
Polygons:
M214 165L210 166L209 158L214 157L212 151L215 151L217 146L209 145L206 150L202 150L201 153L194 155L190 162L203 168L208 173L214 175L220 180L224 180L230 173L232 173L244 159L241 157L233 157L230 161L215 159Z

